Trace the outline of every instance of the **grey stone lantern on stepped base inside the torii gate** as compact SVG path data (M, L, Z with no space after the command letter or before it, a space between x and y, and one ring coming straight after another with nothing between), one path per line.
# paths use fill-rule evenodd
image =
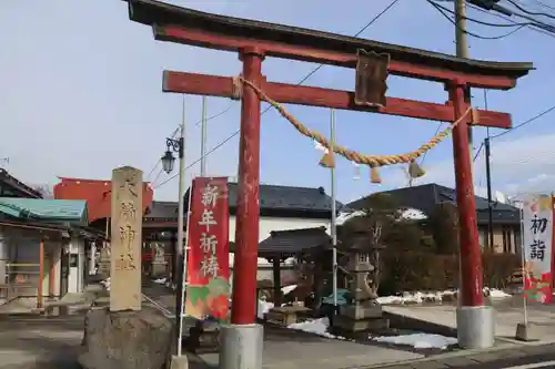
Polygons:
M383 331L389 329L389 319L383 318L382 306L376 303L380 269L371 264L371 256L379 253L380 247L373 244L366 247L364 233L357 233L352 245L344 248L346 267L341 269L350 279L350 299L341 306L339 315L333 318L333 329L343 334Z

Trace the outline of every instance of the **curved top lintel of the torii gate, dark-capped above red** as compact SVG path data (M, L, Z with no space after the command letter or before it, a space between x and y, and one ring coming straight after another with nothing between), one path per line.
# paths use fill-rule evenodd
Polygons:
M239 51L249 44L268 57L355 68L357 50L391 55L390 74L437 82L458 80L473 88L508 90L529 62L492 62L406 48L336 33L206 13L155 0L123 0L129 18L153 25L157 40Z

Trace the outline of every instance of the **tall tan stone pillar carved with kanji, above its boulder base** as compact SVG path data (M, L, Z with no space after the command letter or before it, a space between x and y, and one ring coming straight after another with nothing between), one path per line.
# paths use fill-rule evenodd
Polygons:
M141 309L142 172L112 172L110 310Z

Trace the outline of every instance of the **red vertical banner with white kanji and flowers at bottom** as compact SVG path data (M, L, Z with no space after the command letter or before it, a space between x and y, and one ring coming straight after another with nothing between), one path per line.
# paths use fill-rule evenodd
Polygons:
M226 321L230 297L226 177L196 177L191 191L185 314Z

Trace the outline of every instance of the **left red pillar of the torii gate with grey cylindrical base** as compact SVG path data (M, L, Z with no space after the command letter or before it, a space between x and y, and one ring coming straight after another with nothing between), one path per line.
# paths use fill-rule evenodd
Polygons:
M243 78L262 81L264 53L243 48ZM256 271L260 219L260 99L253 89L241 94L241 137L239 141L239 193L235 217L235 263L231 325L222 326L220 365L224 369L262 368L264 329L255 324Z

